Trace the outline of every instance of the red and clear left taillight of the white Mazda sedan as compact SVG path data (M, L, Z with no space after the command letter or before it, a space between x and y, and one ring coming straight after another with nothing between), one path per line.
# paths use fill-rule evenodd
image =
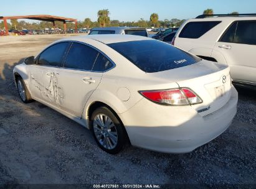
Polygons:
M189 105L202 103L201 98L188 88L159 90L159 91L140 91L140 93L155 103L170 105Z

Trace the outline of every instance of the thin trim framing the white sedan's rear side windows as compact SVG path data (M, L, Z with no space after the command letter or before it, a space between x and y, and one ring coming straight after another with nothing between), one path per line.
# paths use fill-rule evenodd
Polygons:
M91 71L91 72L95 72L95 73L104 73L104 72L107 72L113 68L116 67L116 64L113 62L113 60L111 60L105 53L103 53L101 50L99 50L98 48L96 47L93 47L92 45L90 44L86 44L85 42L80 42L80 41L77 41L77 40L68 40L66 42L71 42L72 44L70 45L70 48L72 47L73 43L78 43L78 44L82 44L82 45L85 45L85 46L88 46L88 47L91 47L93 48L94 50L96 50L98 53L101 53L104 57L106 57L112 64L112 66L110 68L108 68L107 70L104 70L104 71L93 71L93 67L94 67L94 64L98 58L98 55L97 57L95 58L95 62L93 63L93 66L92 66L92 69L91 70L83 70L83 69L75 69L75 68L65 68L65 60L67 58L67 55L69 55L69 52L67 52L67 55L65 56L65 60L64 60L64 63L63 63L63 67L59 67L59 68L62 68L62 69L66 69L66 70L78 70L78 71ZM70 50L69 48L69 50Z

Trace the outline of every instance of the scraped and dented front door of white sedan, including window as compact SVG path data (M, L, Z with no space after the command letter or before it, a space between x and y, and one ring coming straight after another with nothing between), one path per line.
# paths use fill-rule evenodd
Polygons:
M60 103L63 95L57 85L57 75L68 47L69 42L60 42L40 53L36 65L30 70L30 86L34 98L54 106Z

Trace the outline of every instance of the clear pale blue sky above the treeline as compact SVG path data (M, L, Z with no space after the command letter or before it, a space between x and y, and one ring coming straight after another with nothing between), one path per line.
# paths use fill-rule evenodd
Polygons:
M110 11L111 20L138 21L149 20L150 14L158 13L159 20L189 19L211 8L216 14L233 11L239 13L256 13L256 0L20 0L2 1L0 16L20 16L31 14L49 14L64 16L83 21L90 17L97 21L100 9Z

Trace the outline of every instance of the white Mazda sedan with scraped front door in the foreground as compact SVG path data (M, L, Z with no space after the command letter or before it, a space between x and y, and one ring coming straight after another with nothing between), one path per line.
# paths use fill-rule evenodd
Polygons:
M135 35L61 39L13 74L24 103L34 99L91 129L110 154L126 142L191 152L224 132L237 111L227 65Z

